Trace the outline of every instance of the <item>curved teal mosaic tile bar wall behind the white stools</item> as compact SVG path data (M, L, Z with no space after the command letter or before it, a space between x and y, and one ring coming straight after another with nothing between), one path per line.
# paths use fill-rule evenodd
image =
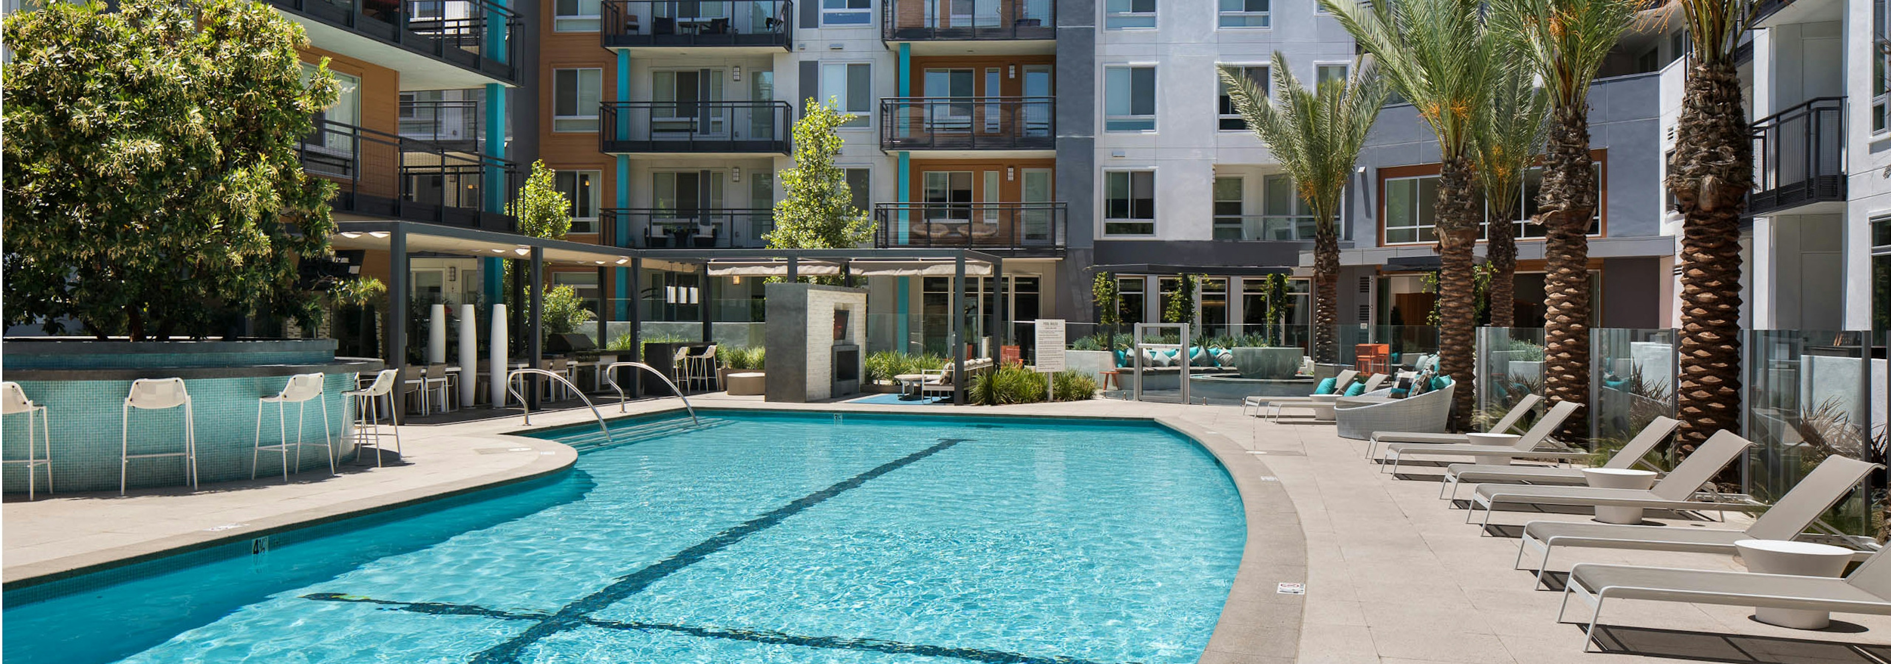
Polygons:
M191 415L197 423L199 483L250 479L250 456L257 428L257 398L274 396L289 383L287 375L187 379ZM64 492L117 490L119 485L119 423L130 381L21 381L26 398L47 407L53 453L53 489ZM329 374L323 394L304 406L303 441L321 441L321 402L327 402L329 434L337 464L352 458L348 423L354 421L344 390L356 389L356 374ZM297 404L286 404L289 440L297 434ZM38 419L38 417L34 417ZM282 440L276 424L276 404L263 406L263 445ZM132 409L129 426L132 455L183 451L183 409ZM0 424L0 455L26 458L26 415L6 415ZM321 447L303 447L301 472L329 472ZM289 451L291 464L295 451ZM282 477L282 455L265 451L257 462L257 477ZM45 490L45 470L38 468L38 489ZM293 470L291 470L293 472ZM291 475L293 479L295 475ZM132 458L127 487L185 485L183 458ZM0 470L0 489L26 490L26 466L6 464Z

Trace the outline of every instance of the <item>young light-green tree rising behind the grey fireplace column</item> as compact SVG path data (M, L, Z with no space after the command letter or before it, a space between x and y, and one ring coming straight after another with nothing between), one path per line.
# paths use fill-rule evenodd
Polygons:
M807 100L807 113L794 121L794 168L781 170L781 200L770 249L853 249L874 240L866 211L853 206L847 172L834 166L841 138L836 128L853 115L840 102Z

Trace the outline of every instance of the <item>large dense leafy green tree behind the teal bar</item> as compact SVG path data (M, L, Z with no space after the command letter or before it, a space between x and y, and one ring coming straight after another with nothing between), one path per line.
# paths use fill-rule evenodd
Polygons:
M303 26L246 0L47 2L6 17L6 321L210 336L314 328L299 257L331 253L333 185L297 143L335 104Z

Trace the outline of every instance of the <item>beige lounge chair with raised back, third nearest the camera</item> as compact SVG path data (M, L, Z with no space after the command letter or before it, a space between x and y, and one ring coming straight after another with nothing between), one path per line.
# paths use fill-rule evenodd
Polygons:
M1534 487L1534 485L1477 485L1471 492L1471 506L1464 511L1464 523L1471 523L1477 509L1484 509L1484 530L1490 526L1490 513L1500 502L1528 506L1585 506L1585 507L1643 507L1643 509L1687 509L1687 511L1751 511L1762 507L1747 500L1696 500L1696 492L1713 479L1721 468L1732 464L1740 453L1753 447L1753 441L1734 432L1717 432L1706 445L1694 449L1668 477L1653 489L1596 489L1596 487ZM1717 496L1717 494L1715 494ZM1708 496L1708 498L1715 498ZM1742 496L1745 498L1745 496Z

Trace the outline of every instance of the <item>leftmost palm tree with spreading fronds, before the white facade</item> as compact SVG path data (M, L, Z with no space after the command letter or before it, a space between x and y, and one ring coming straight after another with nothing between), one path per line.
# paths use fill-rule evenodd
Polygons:
M1350 81L1316 83L1307 91L1288 70L1288 58L1275 51L1273 77L1278 100L1254 87L1237 70L1220 70L1227 98L1248 121L1254 134L1267 143L1275 158L1293 175L1293 187L1312 208L1312 319L1314 358L1339 358L1333 340L1339 326L1339 206L1346 194L1346 179L1360 158L1365 134L1379 119L1386 102L1386 87L1371 68L1362 68Z

